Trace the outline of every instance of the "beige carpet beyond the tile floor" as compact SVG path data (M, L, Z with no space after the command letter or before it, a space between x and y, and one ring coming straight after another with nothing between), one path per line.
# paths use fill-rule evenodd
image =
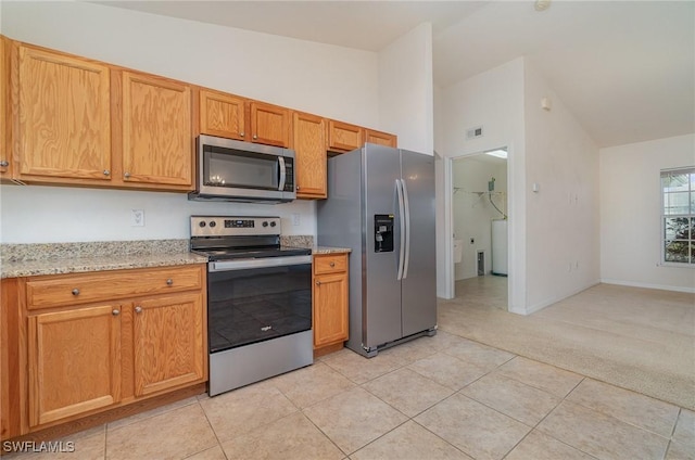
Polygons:
M456 335L695 410L695 295L598 284L523 317L506 279L478 277L439 302Z

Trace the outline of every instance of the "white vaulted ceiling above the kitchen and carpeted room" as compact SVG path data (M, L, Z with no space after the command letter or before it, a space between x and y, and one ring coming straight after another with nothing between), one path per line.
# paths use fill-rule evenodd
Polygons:
M598 146L695 132L695 2L97 1L379 51L432 23L442 89L526 56Z

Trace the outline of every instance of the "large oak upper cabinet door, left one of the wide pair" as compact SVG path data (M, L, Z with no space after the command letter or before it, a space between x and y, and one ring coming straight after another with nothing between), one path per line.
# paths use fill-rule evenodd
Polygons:
M106 182L109 67L24 46L18 52L20 179Z

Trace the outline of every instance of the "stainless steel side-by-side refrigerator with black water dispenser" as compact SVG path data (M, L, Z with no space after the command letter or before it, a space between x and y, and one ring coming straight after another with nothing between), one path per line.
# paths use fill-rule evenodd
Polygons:
M437 332L434 157L383 145L328 159L318 244L350 247L350 337L372 357Z

